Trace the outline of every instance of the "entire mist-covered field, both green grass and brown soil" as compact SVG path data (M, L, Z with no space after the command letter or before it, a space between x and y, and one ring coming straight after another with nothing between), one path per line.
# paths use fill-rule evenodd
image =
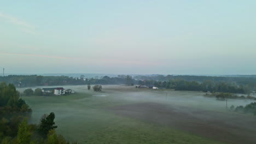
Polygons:
M57 133L78 143L255 143L256 117L226 110L225 101L201 92L103 85L63 86L75 94L22 98L32 107L31 123L55 112ZM34 89L34 88L33 88ZM24 91L24 88L18 88ZM228 106L250 100L228 100Z

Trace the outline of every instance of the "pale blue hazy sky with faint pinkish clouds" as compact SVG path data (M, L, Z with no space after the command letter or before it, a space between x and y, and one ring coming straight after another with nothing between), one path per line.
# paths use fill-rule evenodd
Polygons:
M254 0L0 3L5 73L256 74Z

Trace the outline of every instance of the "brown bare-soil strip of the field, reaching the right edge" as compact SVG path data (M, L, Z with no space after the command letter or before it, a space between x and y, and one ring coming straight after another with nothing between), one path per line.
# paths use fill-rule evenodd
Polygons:
M226 143L256 143L256 117L158 103L121 105L111 107L110 110L118 115L173 127Z

